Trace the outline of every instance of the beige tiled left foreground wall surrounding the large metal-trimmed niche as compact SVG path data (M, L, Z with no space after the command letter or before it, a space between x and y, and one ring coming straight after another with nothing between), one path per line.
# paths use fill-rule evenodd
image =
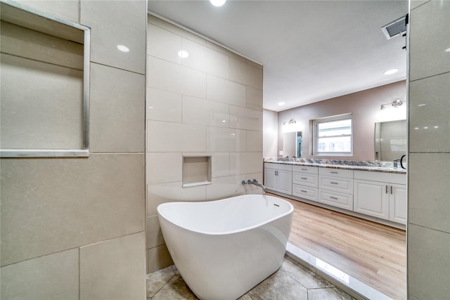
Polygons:
M20 3L91 27L91 70L109 72L90 83L102 154L1 159L0 298L145 299L146 1Z

